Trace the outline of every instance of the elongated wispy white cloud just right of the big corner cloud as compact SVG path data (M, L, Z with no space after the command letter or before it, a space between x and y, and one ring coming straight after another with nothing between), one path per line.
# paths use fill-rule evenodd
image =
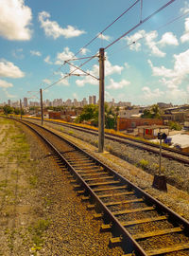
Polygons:
M84 30L78 30L76 27L68 25L66 28L60 27L56 21L50 21L50 13L42 11L39 13L39 21L44 29L46 36L51 36L54 39L63 36L65 38L77 37L85 33Z

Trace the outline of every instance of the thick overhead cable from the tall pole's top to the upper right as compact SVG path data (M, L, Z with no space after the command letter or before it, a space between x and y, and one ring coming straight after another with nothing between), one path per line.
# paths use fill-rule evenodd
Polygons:
M126 35L128 35L131 31L133 31L136 27L141 26L142 24L146 23L146 21L148 21L151 17L153 17L155 14L157 14L158 12L160 12L161 10L163 10L164 8L168 7L170 4L172 4L173 2L175 2L176 0L171 0L168 3L166 3L165 5L163 5L163 7L161 7L160 9L157 9L156 11L154 11L152 14L150 14L149 16L146 17L146 19L144 19L143 21L140 21L137 25L135 25L134 27L130 28L126 33L124 33L123 35L121 35L120 37L118 37L117 39L115 39L110 45L106 46L104 49L108 49L110 46L114 45L115 43L117 43L120 39L122 39L123 37L125 37Z

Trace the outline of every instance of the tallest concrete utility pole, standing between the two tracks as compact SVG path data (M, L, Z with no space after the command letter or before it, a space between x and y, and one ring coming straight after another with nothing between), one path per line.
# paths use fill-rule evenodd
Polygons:
M104 48L99 49L98 152L104 151Z

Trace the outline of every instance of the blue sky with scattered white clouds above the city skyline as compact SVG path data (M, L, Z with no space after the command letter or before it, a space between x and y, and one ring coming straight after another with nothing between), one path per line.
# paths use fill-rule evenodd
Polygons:
M39 95L40 88L45 89L73 71L64 61L74 58L135 2L0 0L0 102ZM142 2L142 15L139 1L83 48L77 58L95 55L100 47L110 45L169 1ZM82 68L98 77L98 58ZM143 105L189 102L189 1L174 1L108 47L105 69L106 101L113 98ZM98 81L83 76L81 71L74 73L80 76L62 79L43 90L43 99L81 101L89 95L98 97Z

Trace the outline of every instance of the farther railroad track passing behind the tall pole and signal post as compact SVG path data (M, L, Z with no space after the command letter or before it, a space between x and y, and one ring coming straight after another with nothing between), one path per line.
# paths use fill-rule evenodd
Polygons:
M44 120L45 122L50 122L50 123L55 123L57 125L69 127L72 129L75 129L80 132L84 133L89 133L94 136L98 136L98 132L94 131L94 129L88 129L88 128L83 128L83 127L77 127L76 125L73 124L63 124L60 122L52 121L52 120ZM158 154L160 153L160 147L157 144L153 144L147 141L140 141L134 138L129 138L129 137L122 137L118 135L112 135L110 133L105 134L105 138L111 139L113 141L117 141L119 143L123 144L128 144L129 146L135 147L135 148L140 148L141 150L151 152L153 154ZM183 164L189 165L189 154L185 152L180 152L179 150L172 149L172 148L166 148L163 147L162 149L162 155L163 157L169 158L169 159L174 159L176 161L179 161Z

